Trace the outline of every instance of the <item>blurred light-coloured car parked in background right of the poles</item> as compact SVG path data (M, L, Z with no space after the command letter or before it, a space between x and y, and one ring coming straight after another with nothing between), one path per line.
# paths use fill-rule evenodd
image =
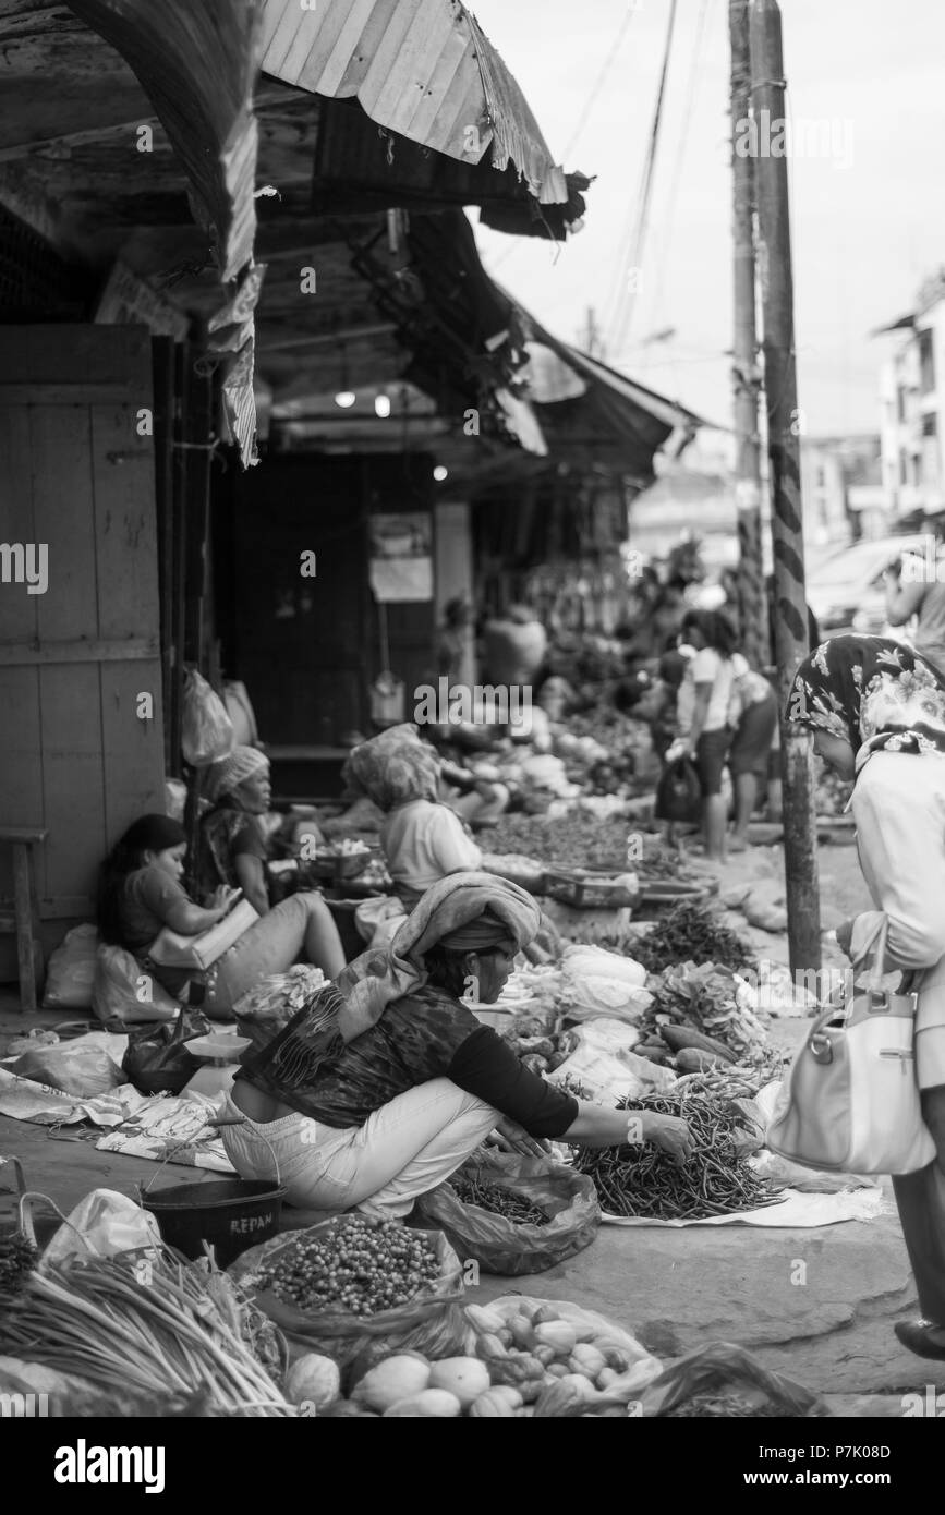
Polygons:
M901 641L907 627L886 623L886 583L883 574L903 553L925 553L928 538L877 536L831 553L807 576L807 603L816 615L821 636L894 636Z

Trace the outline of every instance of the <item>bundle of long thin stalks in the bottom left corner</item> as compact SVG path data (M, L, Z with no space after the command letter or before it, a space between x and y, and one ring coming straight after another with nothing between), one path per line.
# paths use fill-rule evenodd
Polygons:
M167 1253L147 1264L118 1256L50 1265L0 1297L0 1353L132 1398L203 1391L211 1412L292 1415L247 1344L254 1329L226 1274Z

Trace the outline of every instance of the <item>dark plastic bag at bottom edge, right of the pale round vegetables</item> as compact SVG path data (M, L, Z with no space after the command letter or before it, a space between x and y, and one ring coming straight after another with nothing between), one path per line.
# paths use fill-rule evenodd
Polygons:
M780 1373L769 1373L750 1351L727 1341L680 1357L650 1385L642 1400L644 1417L809 1420L830 1415L819 1395Z

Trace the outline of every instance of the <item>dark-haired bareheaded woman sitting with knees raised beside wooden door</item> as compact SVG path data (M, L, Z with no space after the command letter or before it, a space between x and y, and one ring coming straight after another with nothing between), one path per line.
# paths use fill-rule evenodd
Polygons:
M294 962L312 962L327 979L344 968L344 950L327 906L313 894L295 894L250 926L204 973L158 967L148 956L164 927L183 936L200 936L229 912L236 889L221 883L207 906L200 906L180 883L186 856L186 832L167 815L142 815L129 826L109 853L98 889L98 933L104 942L124 947L176 998L188 985L204 989L201 1009L211 1020L230 1020L233 1006L247 989L271 973L285 973Z

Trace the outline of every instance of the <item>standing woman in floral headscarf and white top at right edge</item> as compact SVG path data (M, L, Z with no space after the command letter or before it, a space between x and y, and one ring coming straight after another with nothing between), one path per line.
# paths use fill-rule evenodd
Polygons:
M886 927L884 973L918 992L916 1077L936 1157L894 1176L924 1320L897 1336L921 1357L945 1359L945 677L880 636L836 636L798 668L788 720L854 785L857 851L875 911L837 930L854 964Z

